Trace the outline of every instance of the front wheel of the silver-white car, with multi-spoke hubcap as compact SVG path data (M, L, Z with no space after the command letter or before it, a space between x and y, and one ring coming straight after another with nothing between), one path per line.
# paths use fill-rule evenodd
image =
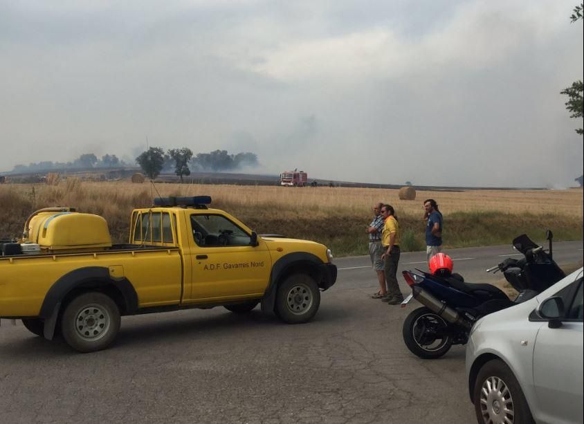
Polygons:
M502 360L493 359L482 366L473 387L473 399L477 423L533 423L521 386Z

